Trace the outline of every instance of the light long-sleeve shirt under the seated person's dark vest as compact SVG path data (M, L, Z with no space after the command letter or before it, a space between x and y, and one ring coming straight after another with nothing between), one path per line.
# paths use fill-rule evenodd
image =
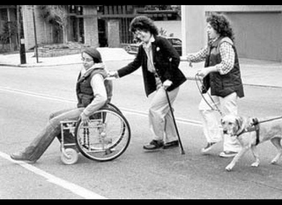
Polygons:
M85 70L85 68L83 67L81 70L82 76L86 72L90 72L95 68L101 68L102 66L105 67L103 64L94 64L94 66L92 66L88 70ZM91 78L90 84L94 93L94 99L83 111L86 116L89 116L93 112L99 110L107 101L107 91L104 85L104 77L101 74L95 74Z

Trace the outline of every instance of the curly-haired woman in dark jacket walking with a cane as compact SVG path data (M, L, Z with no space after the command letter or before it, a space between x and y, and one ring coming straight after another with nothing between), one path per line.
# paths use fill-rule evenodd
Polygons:
M109 77L123 77L142 67L146 96L152 95L149 108L152 140L143 148L156 150L178 147L178 133L170 106L178 94L179 86L186 81L178 68L179 55L166 38L157 36L158 30L147 16L135 17L130 30L142 42L138 53L127 66L109 72Z

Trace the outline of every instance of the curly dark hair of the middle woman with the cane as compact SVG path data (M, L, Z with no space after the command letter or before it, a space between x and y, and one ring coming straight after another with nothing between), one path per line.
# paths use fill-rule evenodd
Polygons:
M149 31L153 36L158 35L158 29L153 20L147 16L136 16L130 23L130 31L135 33L136 30Z

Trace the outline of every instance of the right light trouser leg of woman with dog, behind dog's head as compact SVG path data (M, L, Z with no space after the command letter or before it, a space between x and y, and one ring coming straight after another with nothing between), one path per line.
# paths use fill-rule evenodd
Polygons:
M223 115L238 114L237 99L238 96L235 92L224 98L220 97L221 111L223 112ZM224 151L239 152L241 150L241 146L236 137L231 137L230 135L225 134L223 149Z

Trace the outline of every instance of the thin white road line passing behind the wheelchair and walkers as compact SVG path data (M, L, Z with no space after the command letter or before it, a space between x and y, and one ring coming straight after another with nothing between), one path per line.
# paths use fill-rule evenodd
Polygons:
M40 93L34 93L34 92L16 90L16 89L10 89L10 88L1 88L1 87L0 87L0 90L15 92L15 93L24 94L24 95L30 95L30 96L35 96L35 97L41 97L41 98L50 99L50 100L62 101L64 103L68 102L68 103L76 104L75 100L65 99L65 98L61 98L57 96L50 96L50 95L44 95ZM119 109L127 113L130 113L130 114L136 114L136 115L146 116L146 117L148 116L148 113L143 112L143 111L131 110L127 108L119 108ZM190 119L185 119L185 118L177 118L177 117L175 118L175 120L182 124L193 125L193 126L202 126L202 122L200 121L195 121L195 120L190 120Z

